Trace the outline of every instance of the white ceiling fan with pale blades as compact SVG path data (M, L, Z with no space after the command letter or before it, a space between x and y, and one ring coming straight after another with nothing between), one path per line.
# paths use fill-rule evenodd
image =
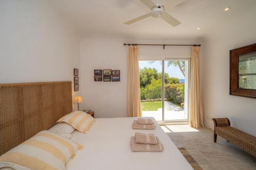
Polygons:
M181 24L180 21L175 19L174 17L170 16L165 10L168 10L170 8L173 8L176 5L179 5L183 3L186 0L170 0L165 6L160 4L159 1L157 1L157 4L153 3L151 0L140 0L145 6L150 8L152 12L147 13L145 15L139 16L137 18L134 18L132 20L129 20L127 22L124 22L126 25L131 25L134 22L140 21L142 19L145 19L147 17L153 16L156 18L162 18L166 22L168 22L173 27L176 27Z

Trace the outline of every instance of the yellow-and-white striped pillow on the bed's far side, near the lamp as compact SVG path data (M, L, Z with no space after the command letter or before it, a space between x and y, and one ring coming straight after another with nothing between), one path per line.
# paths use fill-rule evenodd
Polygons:
M86 133L95 122L95 119L85 112L73 111L70 114L61 117L57 122L66 122L76 130Z

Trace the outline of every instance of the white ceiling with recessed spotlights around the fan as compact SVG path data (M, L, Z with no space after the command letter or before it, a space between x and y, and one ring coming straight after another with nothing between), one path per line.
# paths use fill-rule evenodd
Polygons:
M172 0L160 0L162 4L168 1ZM153 17L124 25L123 22L151 11L139 0L54 0L54 3L84 34L96 32L141 38L201 38L250 6L256 6L255 0L187 0L166 11L181 22L172 27L161 18ZM230 10L225 12L227 7ZM198 27L201 30L197 30Z

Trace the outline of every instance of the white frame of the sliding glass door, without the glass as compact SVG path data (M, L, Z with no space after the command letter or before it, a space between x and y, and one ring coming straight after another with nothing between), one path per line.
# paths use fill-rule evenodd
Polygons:
M180 61L180 60L187 60L188 61L188 100L187 100L187 107L189 108L189 92L190 92L190 58L164 58L164 59L142 59L139 61L161 61L162 62L162 120L158 122L163 123L172 123L172 122L188 122L189 120L189 109L187 112L187 119L177 119L177 120L164 120L164 64L166 60L174 60L174 61Z

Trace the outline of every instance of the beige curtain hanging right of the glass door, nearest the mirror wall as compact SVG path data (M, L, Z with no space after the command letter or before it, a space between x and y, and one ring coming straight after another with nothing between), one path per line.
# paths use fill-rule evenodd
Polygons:
M190 91L189 91L189 125L194 128L204 127L203 106L200 84L199 46L192 48Z

